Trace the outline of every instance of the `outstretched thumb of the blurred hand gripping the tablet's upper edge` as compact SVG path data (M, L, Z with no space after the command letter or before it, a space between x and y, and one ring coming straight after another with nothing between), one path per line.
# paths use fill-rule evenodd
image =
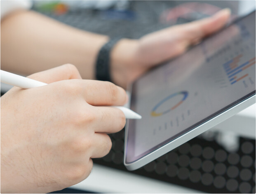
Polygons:
M229 17L230 9L222 9L209 18L182 24L180 27L182 27L186 34L188 44L193 44L194 41L200 40L223 28Z

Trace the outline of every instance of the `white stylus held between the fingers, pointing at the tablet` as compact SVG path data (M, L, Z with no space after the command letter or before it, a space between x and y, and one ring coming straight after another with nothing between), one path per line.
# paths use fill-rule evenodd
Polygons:
M35 87L47 85L47 83L29 79L29 78L19 76L16 74L12 74L10 72L5 72L3 70L1 70L1 82L7 83L9 85L14 85L14 86L17 86L17 87L23 88L23 89L29 89L29 88L35 88ZM141 115L139 115L138 113L135 113L131 109L128 109L124 106L111 106L111 107L120 109L124 113L125 118L141 119Z

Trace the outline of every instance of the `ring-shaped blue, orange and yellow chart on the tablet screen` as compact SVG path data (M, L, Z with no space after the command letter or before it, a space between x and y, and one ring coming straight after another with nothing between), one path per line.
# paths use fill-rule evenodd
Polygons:
M178 96L178 95L181 95L183 96L183 98L181 99L180 102L178 102L177 104L175 104L173 107L171 107L170 109L168 109L167 111L163 111L162 113L157 113L157 109L160 105L162 105L164 102L166 102L167 100L175 97L175 96ZM158 116L161 116L163 114L166 114L174 109L176 109L179 105L181 105L181 103L188 97L188 92L187 91L182 91L182 92L176 92L172 95L169 95L167 96L166 98L162 99L157 105L155 105L155 107L152 109L152 112L151 112L151 116L153 117L158 117Z

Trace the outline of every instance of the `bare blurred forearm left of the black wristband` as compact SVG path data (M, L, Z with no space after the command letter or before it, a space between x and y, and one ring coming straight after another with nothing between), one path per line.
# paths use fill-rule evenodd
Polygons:
M1 69L27 75L65 63L95 79L94 63L108 37L85 32L33 11L1 21Z

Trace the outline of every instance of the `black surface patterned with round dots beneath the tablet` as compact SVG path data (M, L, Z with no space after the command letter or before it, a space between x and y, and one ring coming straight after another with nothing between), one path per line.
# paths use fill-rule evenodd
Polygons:
M94 161L127 171L123 165L123 136L124 131L110 135L113 141L110 153ZM240 138L240 142L237 152L228 152L212 139L195 138L130 172L203 192L254 192L255 153L251 150L255 150L255 140Z

